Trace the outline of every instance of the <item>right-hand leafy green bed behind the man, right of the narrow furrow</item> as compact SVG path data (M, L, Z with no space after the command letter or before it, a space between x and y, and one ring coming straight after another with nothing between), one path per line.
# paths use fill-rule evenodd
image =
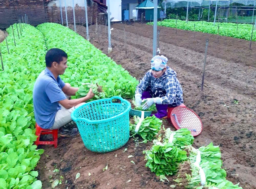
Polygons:
M48 49L60 48L67 52L68 68L61 76L65 83L74 87L82 83L98 83L106 98L134 97L136 78L82 36L56 23L43 23L37 29L44 34Z

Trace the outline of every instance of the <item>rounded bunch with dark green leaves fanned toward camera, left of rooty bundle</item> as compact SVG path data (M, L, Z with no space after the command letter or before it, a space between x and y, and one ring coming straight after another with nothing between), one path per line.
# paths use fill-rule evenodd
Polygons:
M157 142L150 150L143 151L143 154L146 154L146 167L155 172L157 176L176 174L178 165L187 159L187 152L173 143Z

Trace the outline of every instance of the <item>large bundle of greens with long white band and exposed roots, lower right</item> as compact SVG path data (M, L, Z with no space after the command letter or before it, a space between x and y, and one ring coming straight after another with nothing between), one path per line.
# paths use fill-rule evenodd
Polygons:
M179 183L179 186L194 189L201 185L199 167L195 164L198 151L200 151L201 156L199 166L204 171L206 184L217 184L225 180L226 171L221 169L222 160L220 159L221 153L218 146L210 143L208 146L202 146L198 150L192 146L188 146L187 149L190 153L189 161L186 166L183 164L179 166L177 179L174 179Z

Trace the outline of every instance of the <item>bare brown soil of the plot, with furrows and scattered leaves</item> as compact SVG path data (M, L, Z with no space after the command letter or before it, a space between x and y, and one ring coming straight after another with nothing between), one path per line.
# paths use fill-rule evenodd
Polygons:
M94 25L89 30L90 41L107 53L108 34L105 35L105 26L100 27L99 36L95 34ZM111 27L114 28L111 33L113 51L109 56L140 79L150 69L153 27L125 25L127 56L124 25L114 24ZM217 43L216 35L196 32L194 38L191 31L178 30L175 35L175 29L158 29L161 30L160 50L169 59L168 65L177 72L184 91L184 103L200 116L203 123L203 131L195 138L194 146L210 142L219 145L227 179L233 183L240 182L243 188L256 188L256 42L249 50L250 42L241 39L220 36ZM86 38L83 26L77 26L77 31ZM209 47L204 90L201 92L206 38L209 38ZM233 99L239 103L233 103ZM166 120L164 125L173 129ZM60 138L56 149L43 146L45 153L37 166L39 179L43 181L43 188L50 188L49 175L54 175L52 171L56 165L60 173L53 178L64 177L56 188L169 188L174 184L173 177L167 177L169 183L161 182L145 167L142 152L150 149L152 144L135 144L131 138L119 150L99 154L87 150L80 136ZM124 152L124 148L127 151ZM134 157L128 158L129 155ZM107 164L108 169L103 171ZM75 181L78 172L81 176Z

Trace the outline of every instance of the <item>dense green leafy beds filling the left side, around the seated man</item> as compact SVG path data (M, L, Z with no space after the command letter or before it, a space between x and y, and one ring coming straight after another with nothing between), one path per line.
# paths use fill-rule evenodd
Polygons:
M44 150L34 145L32 91L45 68L47 49L67 52L69 68L61 77L72 86L99 83L105 97L126 98L134 95L138 81L83 37L59 24L44 23L37 28L25 24L19 36L14 27L16 46L12 27L7 32L10 54L6 43L0 44L4 62L4 71L0 71L0 187L37 189L42 183L34 169Z

